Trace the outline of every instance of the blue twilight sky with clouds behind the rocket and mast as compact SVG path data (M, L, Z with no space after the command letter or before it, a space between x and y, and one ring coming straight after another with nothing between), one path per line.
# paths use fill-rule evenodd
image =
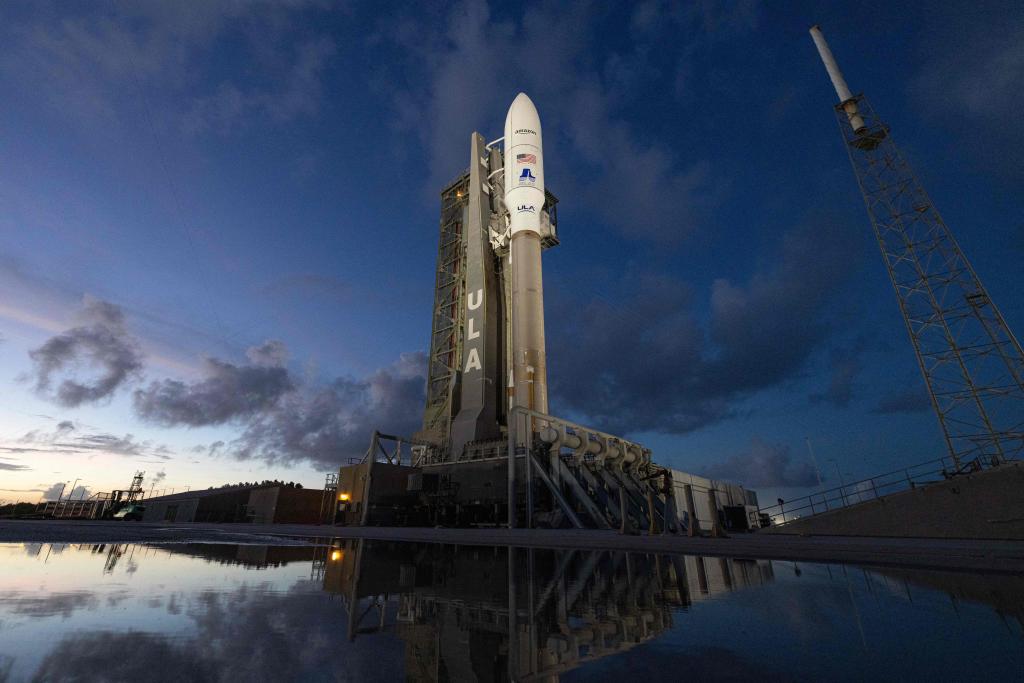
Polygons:
M942 455L807 29L1019 331L1024 9L681 4L5 3L0 499L415 430L437 194L520 90L554 414L768 500L807 436L828 483Z

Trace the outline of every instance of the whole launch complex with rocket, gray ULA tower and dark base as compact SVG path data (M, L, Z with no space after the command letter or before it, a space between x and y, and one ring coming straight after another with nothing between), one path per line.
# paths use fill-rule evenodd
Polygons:
M758 523L753 492L673 472L639 443L549 414L541 254L558 245L557 202L540 117L519 93L504 137L474 132L469 169L441 191L423 429L374 434L362 462L339 472L335 521L648 532Z

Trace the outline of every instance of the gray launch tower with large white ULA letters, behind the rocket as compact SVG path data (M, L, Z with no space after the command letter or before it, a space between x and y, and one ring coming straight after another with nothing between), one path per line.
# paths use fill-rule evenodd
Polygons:
M435 446L430 464L480 460L507 446L512 269L504 158L473 133L470 160L441 190L427 401L417 434ZM540 244L547 250L558 246L558 199L544 196Z

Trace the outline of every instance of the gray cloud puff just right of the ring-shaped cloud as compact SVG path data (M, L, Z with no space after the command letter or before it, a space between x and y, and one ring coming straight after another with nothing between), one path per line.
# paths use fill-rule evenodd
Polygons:
M135 412L147 422L164 426L202 427L251 418L270 409L294 388L285 345L268 341L249 349L250 364L234 365L207 358L206 379L186 384L178 380L152 382L136 389Z

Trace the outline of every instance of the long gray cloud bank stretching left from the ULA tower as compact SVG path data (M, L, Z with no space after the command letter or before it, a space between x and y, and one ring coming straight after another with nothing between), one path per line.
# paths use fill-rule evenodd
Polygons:
M374 429L412 434L420 427L424 353L402 354L362 379L338 378L322 386L289 373L287 348L279 341L251 348L247 356L242 365L208 358L206 379L191 384L153 382L135 391L135 411L166 427L243 427L239 438L197 446L197 453L331 466L361 455Z

